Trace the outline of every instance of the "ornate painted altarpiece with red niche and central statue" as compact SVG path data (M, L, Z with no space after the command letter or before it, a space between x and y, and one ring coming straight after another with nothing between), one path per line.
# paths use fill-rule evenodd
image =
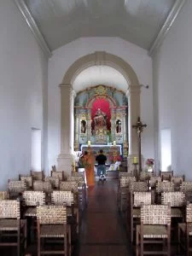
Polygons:
M123 91L97 85L79 91L74 103L75 151L90 143L96 152L105 145L110 154L115 142L121 154L128 155L128 102Z

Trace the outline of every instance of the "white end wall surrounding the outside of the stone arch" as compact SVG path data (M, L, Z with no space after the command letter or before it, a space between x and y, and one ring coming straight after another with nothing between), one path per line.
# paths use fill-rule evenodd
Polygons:
M141 84L149 84L149 89L142 88L141 92L141 118L148 125L143 131L142 153L145 158L154 157L152 60L147 51L120 38L79 38L56 49L49 59L49 166L57 164L60 154L61 96L58 85L74 61L95 51L121 57L137 73Z

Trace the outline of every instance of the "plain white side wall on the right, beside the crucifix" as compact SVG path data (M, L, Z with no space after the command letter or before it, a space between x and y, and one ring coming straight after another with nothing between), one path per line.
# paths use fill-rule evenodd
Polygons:
M155 134L170 128L172 170L192 180L192 1L177 16L154 55ZM159 119L159 120L158 120ZM159 133L160 134L160 133ZM160 149L160 137L157 149ZM156 154L160 155L159 152Z

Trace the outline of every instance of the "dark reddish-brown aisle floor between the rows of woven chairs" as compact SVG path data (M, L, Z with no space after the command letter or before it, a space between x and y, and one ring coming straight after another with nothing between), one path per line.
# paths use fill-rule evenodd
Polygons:
M96 182L88 189L80 237L80 256L127 256L128 241L117 209L117 180Z

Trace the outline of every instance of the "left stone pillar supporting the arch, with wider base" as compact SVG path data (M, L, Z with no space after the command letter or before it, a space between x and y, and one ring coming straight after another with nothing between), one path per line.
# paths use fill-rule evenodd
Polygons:
M58 156L58 171L66 176L72 173L73 152L73 90L71 84L60 84L61 89L61 154Z

